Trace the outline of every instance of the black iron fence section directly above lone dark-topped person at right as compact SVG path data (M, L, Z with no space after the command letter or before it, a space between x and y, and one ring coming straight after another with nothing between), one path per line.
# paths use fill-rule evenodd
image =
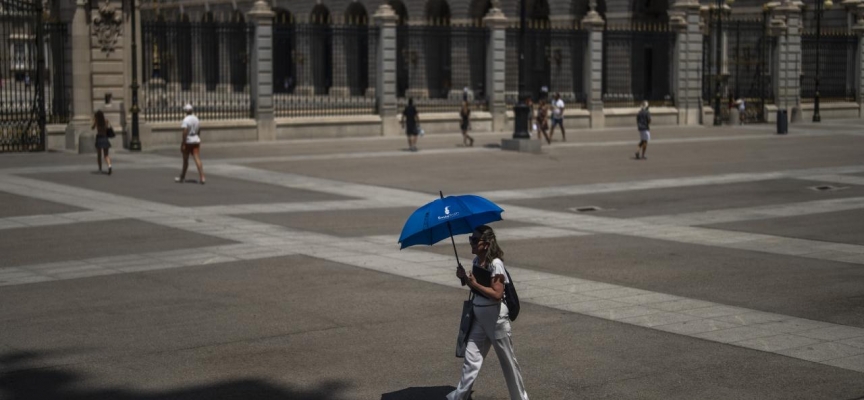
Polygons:
M673 106L668 24L607 26L603 32L603 106L632 107L647 100Z

